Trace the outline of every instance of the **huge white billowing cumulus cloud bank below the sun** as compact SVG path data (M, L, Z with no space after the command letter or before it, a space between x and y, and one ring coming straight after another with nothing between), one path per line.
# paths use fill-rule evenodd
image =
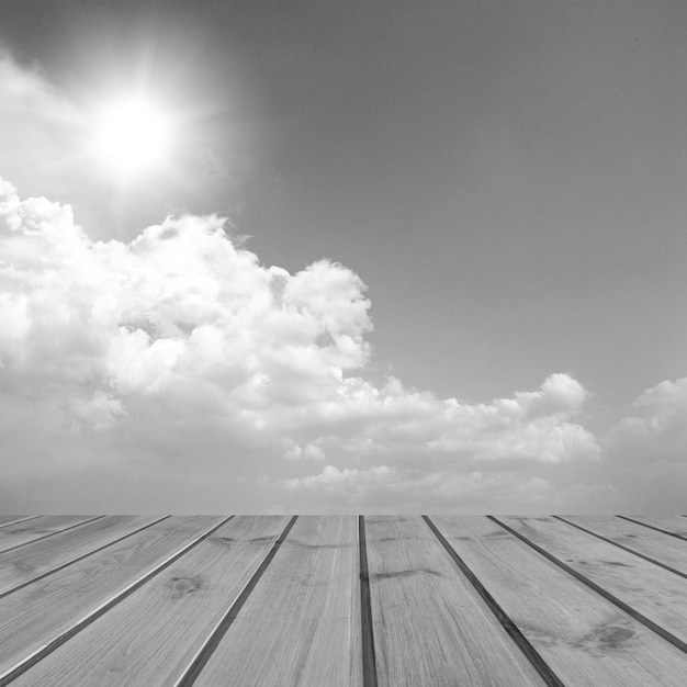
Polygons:
M92 240L69 206L2 182L0 260L18 506L494 510L550 503L542 471L599 453L567 374L477 405L375 386L361 279L262 266L214 215Z

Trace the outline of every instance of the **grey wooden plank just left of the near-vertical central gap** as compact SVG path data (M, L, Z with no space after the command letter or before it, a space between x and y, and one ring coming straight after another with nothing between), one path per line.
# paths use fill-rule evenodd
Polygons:
M194 687L361 686L357 542L352 516L300 517Z

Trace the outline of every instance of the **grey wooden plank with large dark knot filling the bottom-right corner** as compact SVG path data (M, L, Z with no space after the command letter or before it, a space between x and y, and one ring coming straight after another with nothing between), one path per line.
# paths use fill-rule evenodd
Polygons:
M682 651L492 520L431 520L563 684L685 684Z

